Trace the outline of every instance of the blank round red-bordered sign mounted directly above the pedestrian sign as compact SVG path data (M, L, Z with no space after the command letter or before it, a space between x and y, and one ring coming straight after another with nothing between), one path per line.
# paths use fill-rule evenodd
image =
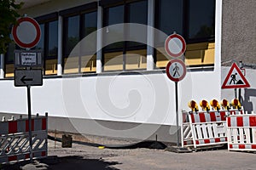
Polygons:
M179 34L172 34L166 38L165 42L166 53L171 57L179 57L186 50L186 42Z

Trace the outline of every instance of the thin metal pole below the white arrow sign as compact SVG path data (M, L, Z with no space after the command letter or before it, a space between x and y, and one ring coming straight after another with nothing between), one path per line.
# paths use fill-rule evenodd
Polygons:
M26 86L27 92L27 110L28 110L28 138L29 138L29 152L30 152L30 161L32 161L32 116L31 116L31 95L30 95L30 86Z

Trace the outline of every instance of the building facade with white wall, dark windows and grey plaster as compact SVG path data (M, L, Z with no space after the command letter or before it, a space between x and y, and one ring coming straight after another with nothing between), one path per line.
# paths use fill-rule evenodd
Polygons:
M131 139L155 139L157 135L162 141L174 142L175 88L165 72L172 58L164 49L166 37L173 32L187 42L180 58L188 72L178 82L179 113L189 110L190 99L233 98L233 91L221 90L227 71L222 65L229 66L232 59L230 46L240 47L247 38L247 31L240 35L233 30L241 25L230 18L229 11L238 8L235 2L24 2L20 14L38 20L42 36L35 49L44 52L44 86L32 87L32 113L49 112L52 130ZM255 3L250 3L240 5L253 13ZM253 14L248 15L255 20ZM255 35L255 26L249 21L247 26L254 28ZM232 32L240 35L241 42ZM240 47L237 55L247 47L247 55L255 54L255 36L248 41L252 46ZM10 44L8 54L1 56L4 105L0 111L20 114L26 113L26 88L14 87L15 48L19 47ZM253 70L248 72L254 74ZM253 101L253 90L246 90L243 95Z

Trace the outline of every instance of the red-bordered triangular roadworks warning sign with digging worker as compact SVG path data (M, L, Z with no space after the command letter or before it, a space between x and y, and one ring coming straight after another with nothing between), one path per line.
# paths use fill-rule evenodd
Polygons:
M250 84L236 63L233 63L221 88L250 88Z

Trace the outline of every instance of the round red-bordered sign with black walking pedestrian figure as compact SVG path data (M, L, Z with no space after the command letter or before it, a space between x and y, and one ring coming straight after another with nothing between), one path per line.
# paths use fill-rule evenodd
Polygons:
M173 82L179 82L186 76L186 65L181 59L172 59L166 65L166 75Z

